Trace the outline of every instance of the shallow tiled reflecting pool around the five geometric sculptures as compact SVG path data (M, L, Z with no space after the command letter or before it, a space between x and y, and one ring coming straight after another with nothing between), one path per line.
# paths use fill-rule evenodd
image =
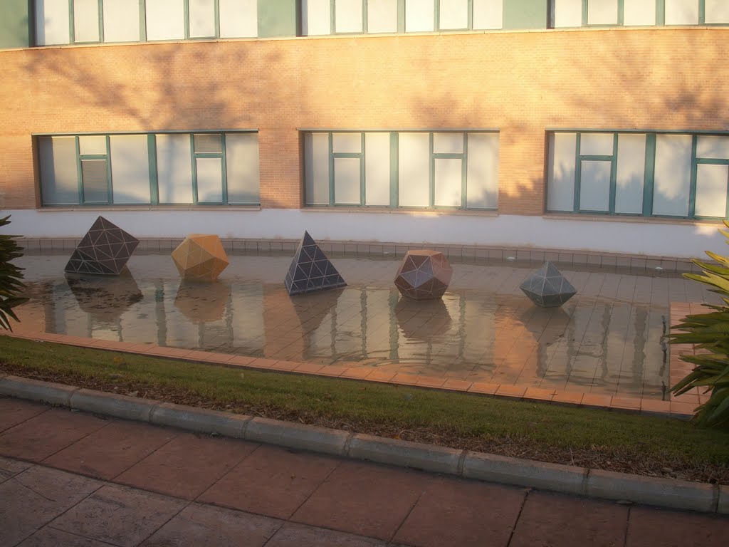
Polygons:
M351 255L332 256L348 287L289 297L290 256L230 255L217 282L190 284L166 254L118 277L64 276L68 255L17 260L31 298L18 329L655 398L670 302L717 300L677 274L561 267L577 295L541 309L518 288L538 263L451 261L443 299L415 302L394 287L398 259Z

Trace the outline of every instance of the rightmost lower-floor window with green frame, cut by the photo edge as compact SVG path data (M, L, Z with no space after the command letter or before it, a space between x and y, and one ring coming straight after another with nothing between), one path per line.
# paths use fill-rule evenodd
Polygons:
M725 218L729 136L550 133L547 211Z

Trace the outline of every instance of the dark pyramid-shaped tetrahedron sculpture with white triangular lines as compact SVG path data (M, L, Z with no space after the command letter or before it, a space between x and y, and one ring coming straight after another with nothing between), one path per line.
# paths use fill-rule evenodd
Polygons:
M284 283L289 295L347 286L308 232L304 232Z

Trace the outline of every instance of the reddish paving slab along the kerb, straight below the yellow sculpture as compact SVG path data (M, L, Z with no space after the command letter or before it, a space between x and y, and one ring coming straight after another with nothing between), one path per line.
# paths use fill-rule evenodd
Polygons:
M180 433L115 481L194 500L257 447L236 439Z

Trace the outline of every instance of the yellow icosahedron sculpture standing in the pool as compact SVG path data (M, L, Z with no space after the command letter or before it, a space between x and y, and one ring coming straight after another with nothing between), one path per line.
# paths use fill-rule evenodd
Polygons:
M172 252L177 270L187 281L215 281L228 265L218 236L191 233Z

